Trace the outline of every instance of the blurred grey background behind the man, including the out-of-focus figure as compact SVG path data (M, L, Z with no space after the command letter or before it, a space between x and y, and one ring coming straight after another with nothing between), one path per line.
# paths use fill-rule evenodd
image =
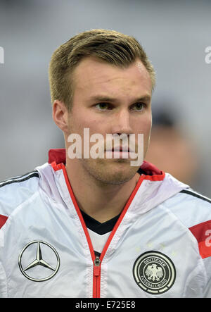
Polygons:
M51 54L78 32L106 28L136 37L157 73L146 160L211 196L210 13L210 0L0 0L0 180L64 146L51 118Z

